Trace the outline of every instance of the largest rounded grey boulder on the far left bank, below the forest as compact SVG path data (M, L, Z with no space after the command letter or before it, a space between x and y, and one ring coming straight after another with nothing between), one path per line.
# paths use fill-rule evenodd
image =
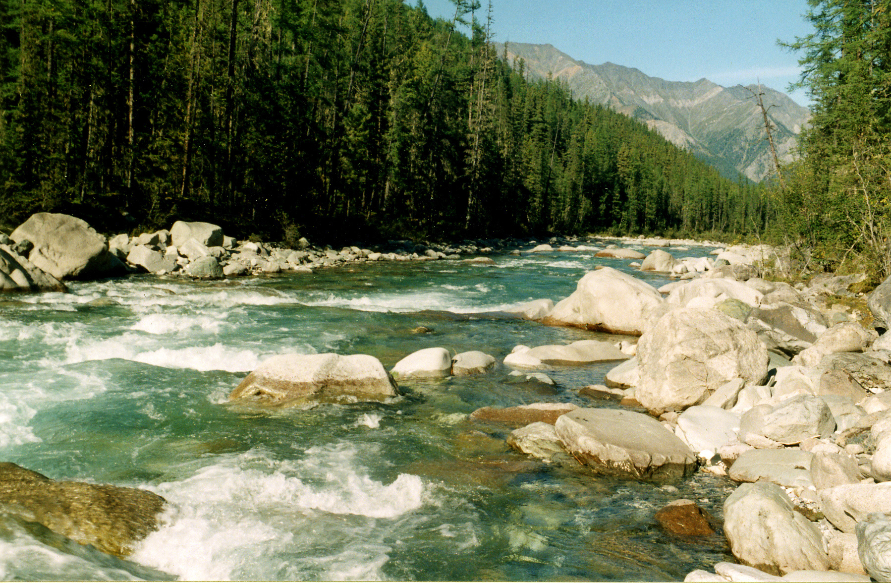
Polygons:
M126 271L108 250L105 237L79 218L38 212L22 223L10 238L34 244L28 259L58 280L88 279Z

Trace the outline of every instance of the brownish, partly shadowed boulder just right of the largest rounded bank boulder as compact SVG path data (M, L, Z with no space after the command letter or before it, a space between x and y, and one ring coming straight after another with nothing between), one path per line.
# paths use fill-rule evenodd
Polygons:
M749 312L746 324L767 349L779 349L790 356L809 348L827 329L820 312L787 302L763 303Z

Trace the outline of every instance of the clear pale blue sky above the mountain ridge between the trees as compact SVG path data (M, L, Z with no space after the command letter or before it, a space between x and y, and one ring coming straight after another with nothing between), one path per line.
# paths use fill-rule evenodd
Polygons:
M430 16L454 14L448 0L424 4ZM760 78L808 104L804 90L787 91L800 55L776 43L813 31L802 17L806 0L492 0L492 8L498 42L551 44L577 60L615 62L669 81L704 77L734 86Z

